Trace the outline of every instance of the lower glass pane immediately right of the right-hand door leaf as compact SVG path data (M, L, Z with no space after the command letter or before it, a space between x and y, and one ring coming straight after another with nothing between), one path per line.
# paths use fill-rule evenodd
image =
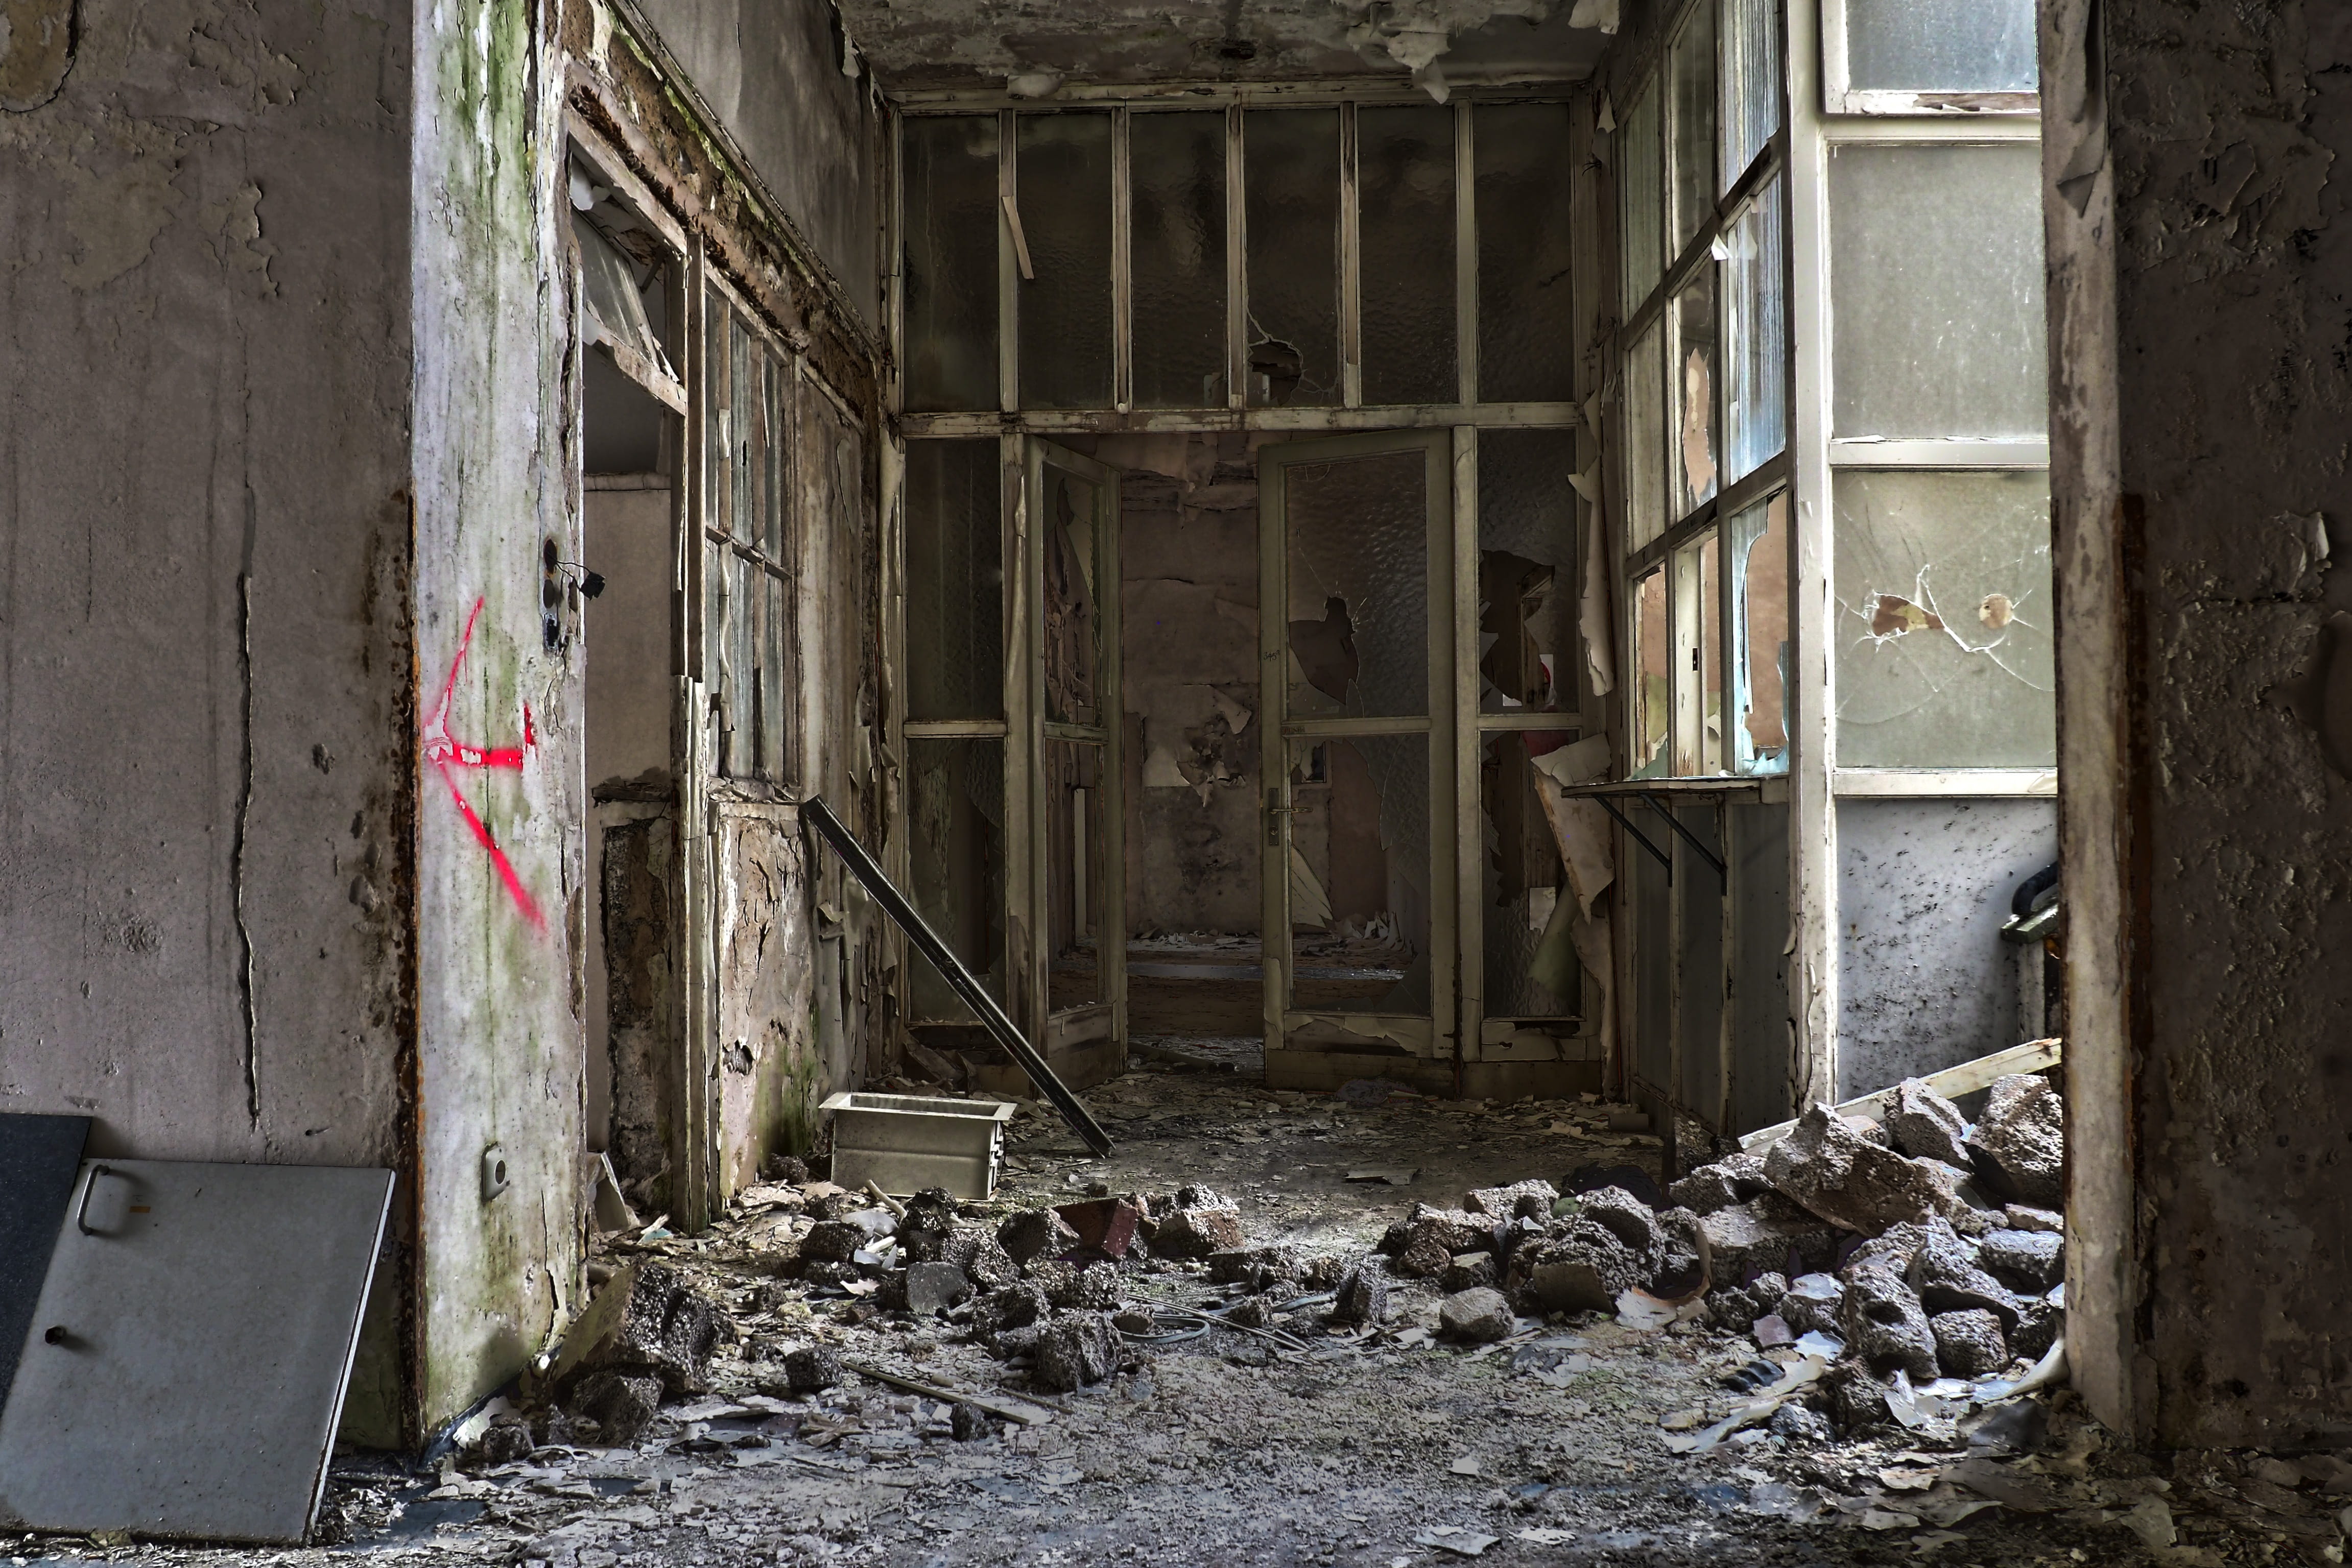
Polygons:
M1486 736L1482 748L1479 806L1489 849L1479 865L1479 924L1489 1018L1573 1018L1578 1011L1576 896L1543 809L1545 778L1534 766L1534 757L1559 750L1573 733L1515 731Z

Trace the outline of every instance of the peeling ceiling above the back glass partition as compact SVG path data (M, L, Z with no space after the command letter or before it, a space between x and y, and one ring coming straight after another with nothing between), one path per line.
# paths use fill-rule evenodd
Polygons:
M887 89L1390 78L1444 99L1590 75L1616 28L1595 0L840 0ZM1606 28L1606 31L1604 31Z

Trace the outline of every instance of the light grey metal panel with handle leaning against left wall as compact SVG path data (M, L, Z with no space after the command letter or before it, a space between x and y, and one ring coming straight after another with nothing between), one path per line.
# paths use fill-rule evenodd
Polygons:
M390 1171L87 1161L0 1410L0 1521L299 1542Z

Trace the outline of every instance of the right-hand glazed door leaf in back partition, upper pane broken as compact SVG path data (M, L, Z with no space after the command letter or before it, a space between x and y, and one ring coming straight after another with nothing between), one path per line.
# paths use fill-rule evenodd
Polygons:
M1261 447L1258 550L1265 1079L1451 1081L1451 433Z

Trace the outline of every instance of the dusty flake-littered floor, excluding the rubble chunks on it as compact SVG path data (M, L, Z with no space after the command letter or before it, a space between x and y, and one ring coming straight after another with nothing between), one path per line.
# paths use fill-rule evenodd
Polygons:
M1416 1199L1458 1204L1468 1187L1559 1182L1588 1164L1656 1171L1656 1140L1609 1133L1606 1107L1583 1103L1352 1105L1155 1063L1089 1103L1117 1138L1115 1154L1089 1159L1033 1107L1014 1128L1000 1211L1068 1201L1089 1185L1207 1182L1240 1201L1251 1241L1359 1255ZM1414 1175L1348 1180L1367 1168ZM776 1281L762 1265L764 1227L774 1215L736 1215L703 1239L623 1248L689 1269L743 1335L715 1363L715 1394L668 1408L635 1450L548 1448L482 1476L348 1455L327 1502L332 1547L26 1537L0 1540L0 1556L550 1568L1404 1568L1472 1552L1501 1566L2340 1561L2331 1516L2340 1500L2298 1490L2307 1476L2265 1481L2230 1455L2190 1455L2164 1467L2173 1476L2164 1481L2147 1460L2105 1450L2070 1415L2067 1394L2051 1401L2039 1455L1978 1472L2011 1507L1936 1483L1943 1465L1966 1458L1950 1425L1795 1448L1752 1429L1679 1458L1661 1422L1689 1427L1693 1413L1731 1408L1738 1396L1719 1380L1755 1359L1745 1340L1689 1321L1630 1328L1585 1316L1522 1324L1512 1342L1461 1352L1416 1333L1435 1326L1437 1295L1404 1281L1383 1335L1327 1333L1308 1309L1289 1321L1305 1352L1214 1328L1134 1347L1134 1368L1098 1387L1025 1394L1018 1373L946 1324L851 1324L854 1302L807 1300ZM1197 1267L1160 1269L1129 1269L1127 1295L1155 1305L1223 1295ZM863 1378L814 1401L788 1399L774 1356L807 1340L922 1382L1014 1394L1047 1420L955 1441L946 1406Z

